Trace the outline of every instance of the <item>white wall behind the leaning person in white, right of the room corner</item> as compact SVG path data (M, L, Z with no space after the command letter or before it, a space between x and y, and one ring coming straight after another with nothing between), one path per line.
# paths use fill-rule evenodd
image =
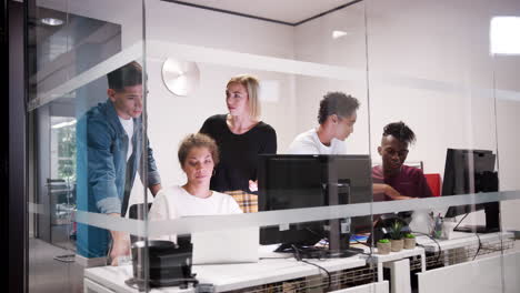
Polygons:
M297 133L318 125L319 102L328 91L352 94L360 101L354 132L347 140L348 152L352 154L370 152L363 7L358 3L300 24L294 38L297 60L344 67L353 72L349 80L297 77ZM348 34L333 39L333 31Z

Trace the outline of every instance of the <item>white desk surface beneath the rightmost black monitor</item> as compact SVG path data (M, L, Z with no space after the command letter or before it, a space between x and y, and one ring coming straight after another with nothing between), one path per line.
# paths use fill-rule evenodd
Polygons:
M437 243L426 235L417 236L417 244L421 244L427 252L438 252L439 246L441 250L450 250L469 245L478 245L479 238L480 242L491 242L499 241L500 239L511 239L513 236L514 234L512 232L486 233L477 236L474 233L453 231L449 240L439 239L437 240Z

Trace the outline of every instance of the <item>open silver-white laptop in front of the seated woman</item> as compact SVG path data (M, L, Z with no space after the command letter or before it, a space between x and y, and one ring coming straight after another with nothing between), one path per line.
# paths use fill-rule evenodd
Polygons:
M259 228L226 229L193 232L193 264L226 264L258 262Z

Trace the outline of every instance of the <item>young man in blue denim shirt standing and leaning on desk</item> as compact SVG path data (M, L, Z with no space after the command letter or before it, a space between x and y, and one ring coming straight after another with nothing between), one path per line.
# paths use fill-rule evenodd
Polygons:
M109 99L78 122L77 198L78 210L119 218L127 212L138 171L153 195L161 189L161 181L148 140L143 150L141 65L130 62L110 72L108 83ZM78 224L77 244L80 255L109 256L112 265L117 265L118 256L130 253L127 233L92 225Z

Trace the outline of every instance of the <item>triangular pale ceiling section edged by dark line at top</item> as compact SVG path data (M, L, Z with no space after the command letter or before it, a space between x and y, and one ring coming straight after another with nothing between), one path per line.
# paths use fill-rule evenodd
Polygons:
M297 24L331 9L359 0L164 0L173 3L188 3L212 9L227 10L258 18Z

